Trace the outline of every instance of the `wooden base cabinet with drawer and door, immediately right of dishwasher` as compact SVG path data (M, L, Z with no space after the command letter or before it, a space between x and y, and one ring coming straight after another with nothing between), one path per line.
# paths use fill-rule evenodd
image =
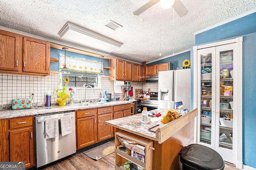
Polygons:
M76 111L76 149L98 142L97 109Z

